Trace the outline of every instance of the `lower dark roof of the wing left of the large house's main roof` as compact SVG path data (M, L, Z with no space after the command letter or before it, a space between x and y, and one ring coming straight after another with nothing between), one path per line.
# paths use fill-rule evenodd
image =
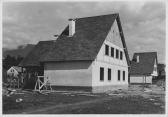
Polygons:
M46 55L53 46L54 41L40 41L34 49L20 62L19 66L40 66L40 57Z

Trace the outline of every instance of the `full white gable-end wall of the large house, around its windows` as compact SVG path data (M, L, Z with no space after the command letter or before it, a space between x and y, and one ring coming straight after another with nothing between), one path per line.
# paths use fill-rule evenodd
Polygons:
M110 48L109 56L105 55L105 44L115 49L114 57L110 56ZM123 52L122 60L116 59L116 49ZM100 67L104 68L104 81L100 81ZM111 81L108 81L108 68L112 70ZM118 70L120 70L120 81L118 81ZM125 81L123 81L123 71L125 71ZM92 64L92 73L92 86L128 85L128 65L119 35L117 22L114 22L111 31L107 35L106 40L96 57L96 60Z

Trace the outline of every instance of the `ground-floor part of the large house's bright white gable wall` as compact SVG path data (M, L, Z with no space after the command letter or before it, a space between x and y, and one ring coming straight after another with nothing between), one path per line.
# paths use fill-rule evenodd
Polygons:
M104 81L100 81L100 67L104 68ZM108 80L108 68L111 69L111 80ZM118 81L118 70L120 70L120 81ZM125 71L125 81L123 81L123 71ZM128 85L127 67L95 61L92 72L92 86Z

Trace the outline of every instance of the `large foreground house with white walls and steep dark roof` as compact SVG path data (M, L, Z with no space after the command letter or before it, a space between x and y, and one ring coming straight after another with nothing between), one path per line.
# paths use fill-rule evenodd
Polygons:
M119 14L69 19L57 40L39 42L20 66L41 70L56 89L127 88L129 56Z

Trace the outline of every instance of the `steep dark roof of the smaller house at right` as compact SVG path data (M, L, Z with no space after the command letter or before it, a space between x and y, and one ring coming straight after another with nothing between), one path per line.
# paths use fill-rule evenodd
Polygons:
M136 62L136 58L139 56L139 62ZM150 75L154 69L154 63L156 59L156 52L144 52L135 53L131 61L130 75Z

